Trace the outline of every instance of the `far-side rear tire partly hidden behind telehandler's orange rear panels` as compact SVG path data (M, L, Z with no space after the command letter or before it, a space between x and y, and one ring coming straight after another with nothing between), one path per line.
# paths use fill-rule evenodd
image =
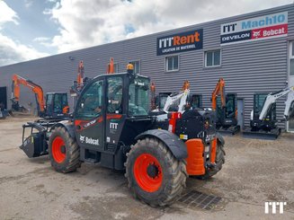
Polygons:
M216 167L213 169L207 168L205 170L204 175L197 176L196 178L198 178L200 180L206 180L206 179L209 179L210 177L214 176L215 174L217 174L221 170L222 165L225 163L225 155L226 155L226 152L224 150L224 145L218 143L217 156L216 156Z

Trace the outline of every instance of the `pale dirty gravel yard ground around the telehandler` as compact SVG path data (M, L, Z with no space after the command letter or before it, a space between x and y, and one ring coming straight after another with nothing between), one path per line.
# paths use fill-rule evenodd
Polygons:
M132 198L123 172L83 164L61 174L48 156L27 158L18 146L31 120L0 120L0 219L294 219L293 134L275 141L225 136L222 171L190 178L186 189L222 198L218 205L153 208ZM265 201L287 202L284 214L264 214Z

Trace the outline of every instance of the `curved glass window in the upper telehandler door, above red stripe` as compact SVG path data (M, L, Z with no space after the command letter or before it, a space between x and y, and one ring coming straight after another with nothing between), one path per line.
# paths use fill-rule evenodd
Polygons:
M76 119L92 119L102 114L103 81L90 85L77 103Z

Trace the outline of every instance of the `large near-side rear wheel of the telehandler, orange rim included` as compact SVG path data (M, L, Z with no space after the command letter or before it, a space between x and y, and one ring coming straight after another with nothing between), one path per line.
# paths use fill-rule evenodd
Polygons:
M185 164L164 143L154 137L138 140L127 156L125 176L135 198L164 207L182 193L188 176Z

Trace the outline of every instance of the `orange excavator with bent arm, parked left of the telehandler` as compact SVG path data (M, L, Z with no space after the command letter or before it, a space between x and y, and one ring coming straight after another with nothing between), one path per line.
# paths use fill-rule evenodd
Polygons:
M12 109L19 111L23 107L20 106L21 85L28 87L34 92L37 102L38 116L46 119L60 119L67 117L69 106L67 103L67 93L49 92L46 94L46 104L44 101L44 92L39 84L31 82L20 75L13 75L12 86Z

